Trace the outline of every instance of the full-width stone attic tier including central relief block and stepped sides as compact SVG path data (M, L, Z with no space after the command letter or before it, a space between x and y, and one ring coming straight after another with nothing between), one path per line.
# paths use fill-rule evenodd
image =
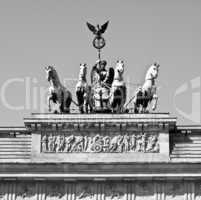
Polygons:
M168 113L33 114L25 127L0 127L0 162L199 162L201 127L175 122Z

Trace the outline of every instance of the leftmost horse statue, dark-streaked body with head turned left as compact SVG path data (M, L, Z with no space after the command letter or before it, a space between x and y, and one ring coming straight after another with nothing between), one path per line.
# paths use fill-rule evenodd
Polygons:
M47 80L50 83L48 108L53 113L69 113L72 94L60 82L59 76L53 66L45 67Z

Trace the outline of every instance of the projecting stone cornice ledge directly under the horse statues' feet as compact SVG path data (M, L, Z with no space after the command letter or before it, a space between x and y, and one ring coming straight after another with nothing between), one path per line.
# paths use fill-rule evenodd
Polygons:
M25 126L35 128L40 124L90 124L116 123L119 124L168 124L175 125L176 118L169 113L149 114L32 114L24 118Z

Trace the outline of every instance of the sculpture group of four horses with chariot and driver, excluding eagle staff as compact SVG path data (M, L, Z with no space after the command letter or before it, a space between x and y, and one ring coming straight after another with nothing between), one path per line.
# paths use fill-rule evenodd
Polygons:
M53 113L69 113L71 102L79 107L80 113L125 113L127 96L126 84L123 79L124 62L117 61L115 68L106 70L107 62L98 61L91 70L91 85L87 83L87 65L80 64L79 78L75 87L77 102L72 94L60 82L54 67L46 67L47 80L50 83L48 107ZM152 102L152 110L157 107L155 80L158 77L159 64L151 65L146 73L145 83L139 87L133 99L134 113L147 113ZM131 99L132 100L132 99Z

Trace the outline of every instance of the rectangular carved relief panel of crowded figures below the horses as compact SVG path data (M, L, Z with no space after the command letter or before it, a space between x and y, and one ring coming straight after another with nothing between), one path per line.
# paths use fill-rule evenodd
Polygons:
M41 136L41 152L66 153L158 153L157 133L119 135L67 135L44 133Z

